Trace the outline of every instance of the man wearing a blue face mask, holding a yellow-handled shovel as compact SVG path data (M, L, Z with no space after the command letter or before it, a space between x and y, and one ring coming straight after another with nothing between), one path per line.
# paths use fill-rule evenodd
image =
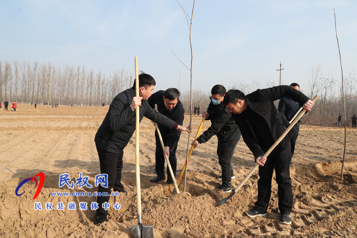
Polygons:
M222 85L215 85L212 88L211 103L207 112L202 113L202 117L211 120L211 126L196 141L192 142L192 145L196 148L198 144L207 142L214 135L217 136L218 163L222 168L222 175L217 179L222 180L222 184L214 190L222 190L224 193L232 191L231 179L235 176L231 158L241 136L238 125L233 119L233 114L222 103L225 93L226 90Z

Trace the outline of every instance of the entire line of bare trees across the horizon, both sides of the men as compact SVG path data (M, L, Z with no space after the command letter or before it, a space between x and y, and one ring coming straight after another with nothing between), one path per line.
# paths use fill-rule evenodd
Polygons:
M287 82L290 85L293 82ZM299 83L299 82L295 82ZM109 104L121 91L131 88L132 75L125 70L114 71L110 75L94 72L93 69L74 66L56 66L50 62L29 63L2 62L0 60L0 101L17 101L19 103L55 103L60 105L77 104L82 106L100 106ZM275 84L276 85L276 84ZM262 85L257 80L243 81L231 80L229 85L224 85L227 90L239 89L250 93L258 88L274 86L268 81ZM213 85L212 85L213 87ZM336 125L338 114L342 112L342 87L337 83L336 74L324 74L321 66L313 67L309 78L309 87L301 91L313 98L319 95L316 107L304 117L304 122ZM354 71L347 73L344 79L344 93L346 98L347 126L350 126L353 114L357 114L357 87ZM190 91L181 93L180 100L185 110L190 105ZM200 106L200 111L206 111L210 103L210 91L200 88L192 91L192 105ZM189 112L189 110L188 110Z

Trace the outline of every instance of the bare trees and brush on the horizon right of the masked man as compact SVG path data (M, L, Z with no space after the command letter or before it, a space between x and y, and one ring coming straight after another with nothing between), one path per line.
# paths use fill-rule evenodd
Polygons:
M313 123L319 125L337 125L338 114L343 114L342 87L338 82L334 72L323 74L321 66L316 66L311 70L309 78L309 87L301 91L310 98L319 95L319 99L315 102L315 107L311 113L304 116L303 123ZM286 85L299 82L288 82ZM277 84L275 84L277 85ZM250 84L242 80L231 80L228 89L239 89L243 93L251 93L259 88L273 87L274 82L268 81L266 85L253 80ZM344 94L346 98L346 121L347 126L351 126L351 117L357 114L357 88L356 77L353 71L350 71L344 78ZM277 107L277 101L275 103Z

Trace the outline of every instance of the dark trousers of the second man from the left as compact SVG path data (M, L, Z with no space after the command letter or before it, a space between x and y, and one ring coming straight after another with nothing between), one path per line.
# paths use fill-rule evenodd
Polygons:
M156 138L155 171L159 177L165 177L164 151L162 150L160 139L157 138L156 136L155 136L155 138ZM167 137L163 137L162 140L165 144L167 141ZM176 157L177 142L169 150L169 152L170 152L169 161L170 161L173 175L175 175L175 176L176 176L176 167L177 167L177 157ZM168 166L167 166L167 181L173 181L171 178L171 174L170 174Z

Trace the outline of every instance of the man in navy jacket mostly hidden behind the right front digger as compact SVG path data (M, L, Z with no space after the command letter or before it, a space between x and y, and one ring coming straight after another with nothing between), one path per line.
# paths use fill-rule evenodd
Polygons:
M290 87L300 91L300 85L298 85L296 83L292 83L290 85ZM293 99L291 99L290 97L287 97L287 96L284 96L284 97L282 97L280 99L279 105L278 105L278 108L277 108L277 110L289 122L291 121L291 119L293 119L293 117L299 111L299 109L300 109L300 104L297 101L294 101ZM299 128L300 128L300 122L301 121L302 121L302 119L300 118L300 120L298 122L296 122L296 124L294 125L294 128L297 130L297 133L290 141L290 145L291 145L290 164L292 163L291 160L292 160L293 155L294 155L295 144L296 144L297 137L299 135Z

